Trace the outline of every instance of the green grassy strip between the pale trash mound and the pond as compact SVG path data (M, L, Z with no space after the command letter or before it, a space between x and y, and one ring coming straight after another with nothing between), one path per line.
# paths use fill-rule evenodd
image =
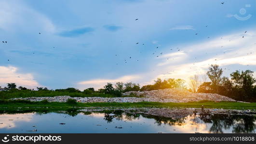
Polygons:
M26 100L0 100L0 110L24 110L24 109L52 109L66 110L69 108L88 108L88 107L123 107L123 108L223 108L223 109L256 109L256 103L238 102L188 102L188 103L159 103L159 102L139 102L139 103L74 103L74 102L31 102Z

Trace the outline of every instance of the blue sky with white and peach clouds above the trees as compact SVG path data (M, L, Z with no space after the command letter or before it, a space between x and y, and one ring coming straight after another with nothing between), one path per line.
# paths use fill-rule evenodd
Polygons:
M256 71L256 0L0 0L2 87L188 83L210 64Z

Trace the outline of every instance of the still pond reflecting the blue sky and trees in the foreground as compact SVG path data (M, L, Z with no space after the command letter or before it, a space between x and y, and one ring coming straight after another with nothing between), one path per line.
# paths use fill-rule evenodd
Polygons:
M0 114L0 133L255 133L256 117L192 114L180 119L121 110Z

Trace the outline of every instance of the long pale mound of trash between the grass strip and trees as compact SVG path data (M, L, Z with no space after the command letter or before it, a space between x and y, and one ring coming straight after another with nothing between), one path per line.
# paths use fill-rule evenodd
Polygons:
M130 95L136 95L138 97L131 97ZM126 97L125 97L126 96ZM54 96L54 97L25 97L25 98L12 98L12 100L29 100L29 101L41 101L47 100L49 102L66 102L68 99L75 99L81 103L92 102L117 102L117 103L136 103L136 102L190 102L200 100L211 101L236 101L227 96L221 96L218 94L205 94L205 93L190 93L183 89L171 88L160 89L153 91L130 91L123 93L122 97L71 97L71 96Z

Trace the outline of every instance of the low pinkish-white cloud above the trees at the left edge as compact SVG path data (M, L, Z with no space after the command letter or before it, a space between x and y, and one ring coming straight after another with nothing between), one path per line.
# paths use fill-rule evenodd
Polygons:
M18 68L0 66L0 86L4 87L7 83L15 83L17 86L36 88L40 84L34 80L31 73L18 73Z

